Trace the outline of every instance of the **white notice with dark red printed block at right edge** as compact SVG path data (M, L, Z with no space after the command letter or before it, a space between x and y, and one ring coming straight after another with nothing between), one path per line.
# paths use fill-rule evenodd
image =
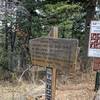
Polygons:
M88 56L100 57L100 21L91 21Z

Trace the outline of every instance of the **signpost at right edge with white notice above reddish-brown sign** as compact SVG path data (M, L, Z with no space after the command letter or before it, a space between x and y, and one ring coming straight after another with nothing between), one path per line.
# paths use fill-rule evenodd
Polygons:
M93 70L97 71L95 90L100 86L100 21L91 21L88 56L93 57Z

